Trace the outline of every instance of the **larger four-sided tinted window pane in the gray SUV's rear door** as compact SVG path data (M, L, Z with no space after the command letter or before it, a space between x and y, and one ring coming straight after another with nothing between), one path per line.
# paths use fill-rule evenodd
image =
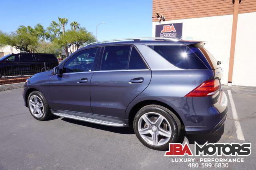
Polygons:
M127 68L129 45L105 47L100 70L124 70Z

